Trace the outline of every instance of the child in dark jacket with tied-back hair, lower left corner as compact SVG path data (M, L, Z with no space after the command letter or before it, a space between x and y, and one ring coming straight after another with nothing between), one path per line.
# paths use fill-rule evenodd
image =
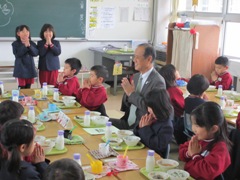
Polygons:
M8 156L0 153L0 179L41 179L47 168L43 149L34 143L35 131L27 120L7 121L1 129L1 143ZM24 161L32 155L32 163Z

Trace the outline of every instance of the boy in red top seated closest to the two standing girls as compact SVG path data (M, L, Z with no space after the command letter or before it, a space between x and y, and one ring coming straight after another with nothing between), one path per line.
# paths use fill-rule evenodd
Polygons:
M69 58L65 61L64 70L59 73L56 86L63 95L74 96L80 88L76 75L81 68L81 61L77 58Z

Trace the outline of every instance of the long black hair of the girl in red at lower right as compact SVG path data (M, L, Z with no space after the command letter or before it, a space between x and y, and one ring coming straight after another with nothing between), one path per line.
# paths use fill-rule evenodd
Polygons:
M227 144L228 150L231 150L231 141L228 139L227 122L223 115L221 107L215 102L205 102L195 108L190 114L191 120L196 121L200 127L205 127L209 131L214 125L219 127L218 131L214 134L214 140L211 141L206 150L210 151L214 144L219 141L224 141Z

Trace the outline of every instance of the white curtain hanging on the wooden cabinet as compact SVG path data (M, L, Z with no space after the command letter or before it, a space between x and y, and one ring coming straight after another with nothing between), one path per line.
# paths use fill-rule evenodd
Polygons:
M181 77L191 77L193 35L189 31L173 30L172 64Z

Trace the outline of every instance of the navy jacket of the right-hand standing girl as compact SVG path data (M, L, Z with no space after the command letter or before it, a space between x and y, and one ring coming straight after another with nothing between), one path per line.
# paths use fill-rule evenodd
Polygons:
M39 50L38 69L40 71L52 71L60 68L59 55L61 54L61 46L59 41L52 40L54 46L45 48L46 40L38 41L37 47Z

